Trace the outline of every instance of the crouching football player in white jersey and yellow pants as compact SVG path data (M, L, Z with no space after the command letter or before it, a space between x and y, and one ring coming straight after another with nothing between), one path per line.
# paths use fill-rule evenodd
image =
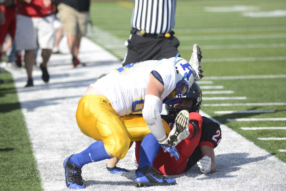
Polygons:
M149 148L148 142L155 139L164 152L178 160L176 147L167 144L170 128L161 119L162 104L177 104L193 81L203 77L201 57L200 48L194 44L190 63L178 54L132 63L91 84L79 100L76 120L81 132L96 142L64 160L67 187L84 188L82 166L114 157L122 159L130 142L139 140L142 152L135 185L176 184L176 180L162 177L152 168L158 150Z

